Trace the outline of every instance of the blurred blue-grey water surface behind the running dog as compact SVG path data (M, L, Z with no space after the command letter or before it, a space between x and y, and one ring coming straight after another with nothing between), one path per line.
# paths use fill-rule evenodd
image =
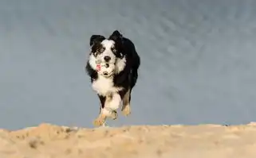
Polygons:
M2 0L0 128L92 128L89 37L115 29L141 67L132 115L108 125L255 121L255 16L253 0Z

